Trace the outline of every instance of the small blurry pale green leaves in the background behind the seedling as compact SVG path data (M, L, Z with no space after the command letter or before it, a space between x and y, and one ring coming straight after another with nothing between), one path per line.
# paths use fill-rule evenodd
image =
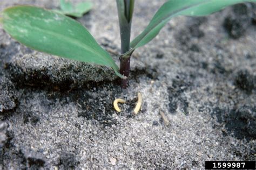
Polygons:
M61 10L53 11L72 17L83 17L84 13L89 12L92 9L92 6L93 4L91 2L82 2L73 6L72 3L69 1L60 0Z

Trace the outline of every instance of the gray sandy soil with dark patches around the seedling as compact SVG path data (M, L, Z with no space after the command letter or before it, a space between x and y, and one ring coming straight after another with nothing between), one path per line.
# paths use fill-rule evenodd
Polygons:
M118 63L116 4L93 3L78 21ZM163 3L136 1L132 37ZM16 4L53 9L58 1L3 0L0 10ZM134 52L129 87L121 89L110 68L32 51L0 28L1 168L204 168L206 160L255 160L255 33L251 4L174 18ZM134 116L138 92L143 105ZM127 101L120 113L115 98Z

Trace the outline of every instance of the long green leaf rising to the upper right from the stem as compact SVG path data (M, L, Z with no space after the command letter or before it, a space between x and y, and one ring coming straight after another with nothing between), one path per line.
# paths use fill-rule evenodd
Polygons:
M242 2L256 2L256 0L169 0L156 12L146 29L131 42L130 52L150 42L173 17L206 16L226 6Z

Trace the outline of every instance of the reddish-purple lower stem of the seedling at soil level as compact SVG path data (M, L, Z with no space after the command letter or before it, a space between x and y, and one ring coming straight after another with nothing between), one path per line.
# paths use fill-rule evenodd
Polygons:
M130 59L131 57L122 57L120 56L120 70L119 72L126 76L126 79L121 79L120 84L122 88L126 88L128 86L128 77L130 73Z

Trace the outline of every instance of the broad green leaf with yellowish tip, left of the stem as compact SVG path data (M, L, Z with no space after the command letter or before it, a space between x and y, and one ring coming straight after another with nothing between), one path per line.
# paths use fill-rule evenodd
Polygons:
M122 77L109 53L76 20L35 6L14 6L5 9L2 16L3 29L22 44L64 58L109 66Z

